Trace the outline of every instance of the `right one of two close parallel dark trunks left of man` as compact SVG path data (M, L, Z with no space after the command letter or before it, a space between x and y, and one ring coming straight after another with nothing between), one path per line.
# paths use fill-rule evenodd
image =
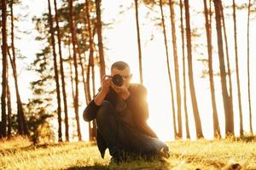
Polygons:
M61 87L62 87L64 113L65 113L65 137L66 137L66 141L69 141L68 114L67 114L67 93L66 93L66 83L65 83L65 76L64 76L62 52L61 52L61 32L60 32L60 26L59 26L59 16L58 16L56 0L54 0L54 3L55 3L56 31L57 31L57 37L58 37L58 47L59 47L60 64L61 64L61 85L62 85Z

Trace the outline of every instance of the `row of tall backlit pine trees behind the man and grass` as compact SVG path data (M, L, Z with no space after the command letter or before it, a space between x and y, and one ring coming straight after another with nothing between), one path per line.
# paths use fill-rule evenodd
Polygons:
M1 28L2 28L2 96L1 96L1 133L0 138L5 138L20 134L30 136L36 143L40 139L54 139L52 126L57 122L58 141L63 140L62 132L65 132L65 140L73 138L70 136L72 129L79 140L82 139L80 127L79 105L81 101L90 100L96 95L96 79L105 74L105 57L102 25L108 27L107 23L102 23L101 1L84 0L56 1L48 0L48 11L40 18L33 18L33 22L39 33L37 41L45 42L45 46L36 55L36 59L28 69L37 73L37 80L31 82L32 98L24 104L20 99L19 77L17 75L17 48L15 48L15 16L13 5L19 5L19 1L1 1ZM240 135L244 135L243 114L241 106L241 82L239 74L239 57L237 50L237 10L247 10L247 96L249 108L249 127L253 135L253 111L251 103L251 80L250 80L250 22L251 13L255 13L255 1L248 1L241 6L232 1L232 6L224 6L221 0L202 0L203 7L200 13L204 14L205 28L207 35L207 70L204 77L209 78L209 86L212 101L212 120L214 137L220 137L220 125L218 118L218 108L216 105L214 72L212 68L213 43L218 47L218 64L221 91L224 105L225 133L234 135L234 105L239 106ZM139 20L141 6L158 9L160 23L158 27L162 30L164 37L163 46L166 49L167 75L170 85L170 95L172 97L172 120L173 127L170 131L177 138L183 137L183 128L186 129L186 137L189 134L189 112L188 98L190 97L195 119L195 130L197 138L203 138L201 127L201 114L198 108L198 99L195 93L195 80L193 60L195 60L196 46L193 39L197 37L195 30L191 29L191 8L188 0L134 0L131 8L135 11L134 20L137 26L137 51L140 82L143 83L143 55L141 42L141 20ZM224 10L232 10L231 16L226 16ZM166 12L168 11L168 12ZM178 11L178 13L177 13ZM168 16L166 16L168 14ZM225 20L227 17L233 19L235 48L229 48L227 29ZM168 18L168 20L166 20ZM171 28L166 26L170 22ZM216 28L215 32L212 33ZM172 42L168 41L166 31L172 32ZM213 37L216 36L216 37ZM198 36L200 37L200 36ZM217 42L213 42L217 39ZM181 40L181 44L177 43ZM172 51L170 47L172 46ZM199 45L200 46L200 45ZM179 55L178 51L182 51ZM235 56L230 56L230 50L235 51ZM236 71L230 70L230 58L236 60ZM244 58L242 58L244 59ZM172 63L173 60L173 63ZM182 62L180 62L182 60ZM12 71L12 72L10 72ZM96 72L100 73L96 77ZM174 77L172 77L174 71ZM12 74L11 74L12 73ZM236 80L231 78L231 74L236 74ZM11 95L9 79L15 80L15 94ZM233 90L236 81L237 90ZM187 84L189 82L189 84ZM233 82L233 83L232 83ZM81 92L82 91L82 92ZM189 92L189 96L187 96ZM234 99L237 96L237 103ZM12 98L16 99L16 104L12 104ZM15 109L14 109L15 108ZM169 113L168 113L169 114ZM184 114L184 116L182 116ZM183 120L184 117L184 120ZM185 127L183 127L185 122ZM64 126L63 126L64 125ZM64 129L62 129L62 126ZM73 126L72 128L70 128ZM89 123L90 140L96 139L96 122Z

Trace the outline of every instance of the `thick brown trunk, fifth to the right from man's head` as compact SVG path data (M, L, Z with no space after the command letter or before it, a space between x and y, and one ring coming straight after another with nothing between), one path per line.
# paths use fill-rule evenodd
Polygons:
M188 51L188 68L189 68L189 88L191 101L193 106L193 112L195 116L195 128L196 136L202 138L201 130L201 118L198 111L196 95L195 95L195 85L194 85L194 76L193 76L193 65L192 65L192 48L191 48L191 31L190 31L190 16L189 16L189 0L184 0L185 4L185 16L186 16L186 35L187 35L187 51Z

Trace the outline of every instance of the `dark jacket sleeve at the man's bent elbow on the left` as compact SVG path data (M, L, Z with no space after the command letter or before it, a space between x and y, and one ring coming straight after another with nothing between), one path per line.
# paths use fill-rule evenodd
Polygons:
M89 105L84 110L83 118L84 121L90 122L96 118L96 112L99 110L100 106L96 105L94 99L90 101Z

